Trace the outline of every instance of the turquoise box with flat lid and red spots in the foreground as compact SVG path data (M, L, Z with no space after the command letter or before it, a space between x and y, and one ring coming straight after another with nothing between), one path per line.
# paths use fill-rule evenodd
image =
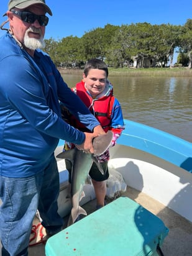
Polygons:
M167 234L161 219L132 199L121 197L50 237L45 254L155 255Z

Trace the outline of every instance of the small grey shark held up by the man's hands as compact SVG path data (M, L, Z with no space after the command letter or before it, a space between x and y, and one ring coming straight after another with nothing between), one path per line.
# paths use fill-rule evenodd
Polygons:
M113 134L111 130L108 130L106 134L101 134L98 137L95 137L93 139L94 154L85 153L75 147L74 149L66 150L57 155L57 158L68 159L72 164L70 188L72 208L67 226L75 223L80 214L87 215L85 209L80 206L80 201L83 196L85 196L83 186L86 184L88 173L93 162L96 163L99 171L104 174L103 168L96 156L103 154L109 148L112 136Z

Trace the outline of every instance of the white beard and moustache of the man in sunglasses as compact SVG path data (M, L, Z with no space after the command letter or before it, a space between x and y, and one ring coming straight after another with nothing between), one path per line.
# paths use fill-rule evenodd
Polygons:
M33 32L38 32L40 33L40 39L34 39L32 37L29 37L28 32L33 31ZM35 29L30 27L29 29L26 30L25 36L24 36L24 45L25 47L29 48L30 50L36 50L37 48L45 48L45 41L43 40L43 36L41 34L41 31L39 29Z

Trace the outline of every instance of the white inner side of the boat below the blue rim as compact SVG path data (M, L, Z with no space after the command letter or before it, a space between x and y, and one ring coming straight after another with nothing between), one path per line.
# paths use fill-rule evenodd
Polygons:
M128 186L148 194L192 222L191 173L149 153L122 145L111 149L111 156L109 169L119 171Z

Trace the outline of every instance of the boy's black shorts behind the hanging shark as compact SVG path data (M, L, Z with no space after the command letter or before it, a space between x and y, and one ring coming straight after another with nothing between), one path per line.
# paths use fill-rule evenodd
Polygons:
M66 169L69 172L69 182L71 183L71 162L65 159L65 165ZM106 161L101 163L101 167L103 168L104 174L102 174L101 171L99 171L96 163L93 162L93 165L89 171L89 176L91 177L91 179L96 181L104 181L107 180L107 178L109 178L108 162Z

